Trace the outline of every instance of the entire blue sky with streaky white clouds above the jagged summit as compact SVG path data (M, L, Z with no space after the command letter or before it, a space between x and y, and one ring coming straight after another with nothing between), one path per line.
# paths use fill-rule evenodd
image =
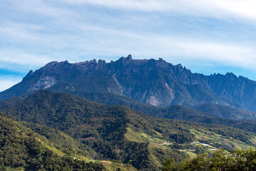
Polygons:
M50 61L163 58L256 80L256 1L1 0L0 90Z

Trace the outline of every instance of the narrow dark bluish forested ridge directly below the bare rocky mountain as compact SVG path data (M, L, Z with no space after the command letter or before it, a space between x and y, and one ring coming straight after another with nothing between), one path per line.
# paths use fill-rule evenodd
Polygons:
M255 119L255 113L239 110L225 105L206 103L204 105L195 106L194 108L196 110L186 108L182 105L172 105L161 108L154 105L140 103L123 95L108 92L73 90L71 87L72 86L68 83L58 83L49 88L49 90L54 92L71 93L79 98L93 100L106 105L126 105L129 108L157 118L186 120L194 123L226 125L256 133L256 123L252 120L245 120Z

